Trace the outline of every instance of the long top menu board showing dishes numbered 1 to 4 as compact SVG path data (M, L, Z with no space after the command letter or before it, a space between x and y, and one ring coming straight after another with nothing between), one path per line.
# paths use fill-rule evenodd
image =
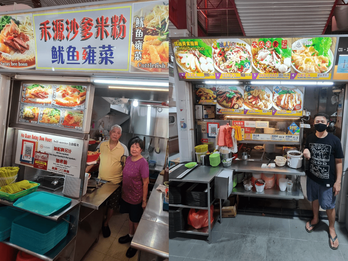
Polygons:
M180 79L329 80L337 38L172 38L171 41Z

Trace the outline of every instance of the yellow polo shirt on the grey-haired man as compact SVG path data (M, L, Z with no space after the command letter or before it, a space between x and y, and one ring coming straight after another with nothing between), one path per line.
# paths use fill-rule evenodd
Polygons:
M110 150L110 140L100 143L99 176L102 180L117 184L122 181L121 157L128 156L127 147L118 142L116 147Z

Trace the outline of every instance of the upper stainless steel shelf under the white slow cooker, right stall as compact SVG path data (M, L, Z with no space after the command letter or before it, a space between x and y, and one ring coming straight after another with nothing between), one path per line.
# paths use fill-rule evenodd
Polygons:
M288 166L275 168L261 168L263 163L268 163L268 161L256 161L256 160L234 160L232 165L228 167L229 169L234 169L238 172L256 172L256 173L275 173L275 174L288 174L288 175L299 175L304 176L303 168L290 168Z

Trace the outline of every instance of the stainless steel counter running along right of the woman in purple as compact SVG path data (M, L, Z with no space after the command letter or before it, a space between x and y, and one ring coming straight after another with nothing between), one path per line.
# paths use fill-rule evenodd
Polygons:
M164 193L156 190L162 183L163 175L158 175L130 246L169 258L169 213L163 211Z

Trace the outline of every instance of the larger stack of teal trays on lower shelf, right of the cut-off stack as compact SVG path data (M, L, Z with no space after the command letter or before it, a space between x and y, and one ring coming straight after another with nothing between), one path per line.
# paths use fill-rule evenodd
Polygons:
M66 220L70 216L65 217ZM10 243L45 254L68 234L69 223L26 213L12 222Z

